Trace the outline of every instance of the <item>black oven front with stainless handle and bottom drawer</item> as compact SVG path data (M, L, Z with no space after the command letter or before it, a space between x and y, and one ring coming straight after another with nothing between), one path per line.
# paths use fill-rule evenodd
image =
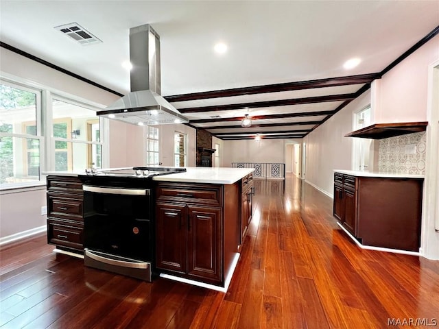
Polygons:
M150 189L84 184L83 190L85 264L125 275L130 275L126 269L117 268L137 272L146 266L150 271L154 255Z

